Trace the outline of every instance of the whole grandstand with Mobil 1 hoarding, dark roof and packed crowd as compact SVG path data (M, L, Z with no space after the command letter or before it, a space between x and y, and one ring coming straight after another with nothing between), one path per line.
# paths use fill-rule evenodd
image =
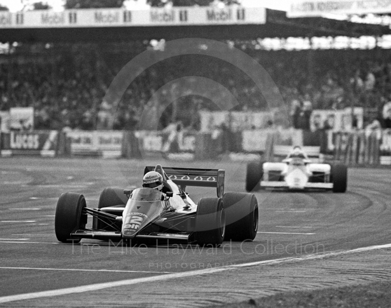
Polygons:
M387 49L273 51L257 43L274 37L381 38L391 34L389 26L322 17L290 19L282 11L239 6L154 8L143 14L125 9L0 13L0 40L8 43L0 54L1 110L34 107L37 129L96 129L98 113L112 112L103 98L114 76L141 52L147 50L153 58L164 40L181 38L228 42L244 51L268 72L288 107L307 97L317 109L378 110L391 93ZM366 89L360 82L365 84L369 74L376 82ZM203 76L223 85L239 102L233 110L268 107L261 90L234 65L205 55L178 55L142 71L124 93L115 118L101 128L137 129L142 105L163 85L184 76ZM172 92L188 86L176 84ZM209 89L208 99L189 95L171 105L174 95L168 91L155 106L168 105L164 117L156 119L159 129L177 120L199 129L197 111L216 109L211 100L222 99L215 90Z

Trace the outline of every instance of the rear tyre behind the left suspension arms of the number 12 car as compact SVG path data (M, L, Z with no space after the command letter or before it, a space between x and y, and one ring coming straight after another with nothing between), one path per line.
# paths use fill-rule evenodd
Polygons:
M124 190L120 188L105 188L99 196L98 209L112 207L116 205L125 206L128 202L128 197L124 194ZM107 221L109 224L110 222ZM97 217L92 218L92 228L100 230L115 230L110 228L109 224L105 223Z

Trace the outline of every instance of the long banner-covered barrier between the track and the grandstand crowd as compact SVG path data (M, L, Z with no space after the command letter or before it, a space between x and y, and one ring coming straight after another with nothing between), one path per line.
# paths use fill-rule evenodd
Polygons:
M391 165L391 129L350 132L248 130L187 131L28 131L1 133L1 156L87 155L108 158L273 160L281 145L312 146L329 159L350 166Z

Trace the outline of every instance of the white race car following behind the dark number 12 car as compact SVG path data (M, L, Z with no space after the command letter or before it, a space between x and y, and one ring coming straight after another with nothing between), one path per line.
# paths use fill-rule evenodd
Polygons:
M285 188L325 189L345 192L348 169L345 165L312 163L300 147L294 147L280 163L251 162L247 165L246 190Z

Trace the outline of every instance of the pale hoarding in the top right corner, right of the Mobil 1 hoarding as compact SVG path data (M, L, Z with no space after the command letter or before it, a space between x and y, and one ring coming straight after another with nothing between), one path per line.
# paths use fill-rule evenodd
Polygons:
M391 12L389 0L293 0L288 17L319 17L325 14L384 14Z

